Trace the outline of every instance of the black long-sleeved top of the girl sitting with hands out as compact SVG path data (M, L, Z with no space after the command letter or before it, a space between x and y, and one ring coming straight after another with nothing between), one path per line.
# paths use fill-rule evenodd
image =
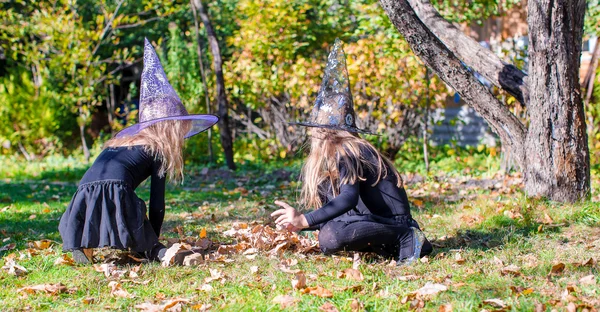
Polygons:
M363 148L361 153L366 161L376 164L377 156L373 151ZM342 181L345 177L346 166L347 164L340 161L338 181ZM343 220L348 216L356 215L376 215L384 218L410 216L406 191L397 186L397 179L392 170L388 168L388 175L373 186L377 181L377 172L373 172L364 164L362 166L365 180L341 185L339 195L335 198L331 186L326 187L327 203L317 210L304 214L311 227L333 219Z

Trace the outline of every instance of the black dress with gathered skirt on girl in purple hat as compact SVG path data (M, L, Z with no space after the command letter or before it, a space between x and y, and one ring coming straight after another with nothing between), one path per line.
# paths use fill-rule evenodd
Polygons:
M147 252L160 245L165 213L165 178L160 161L143 146L106 148L85 173L58 230L63 250L112 247ZM150 215L136 194L151 178Z

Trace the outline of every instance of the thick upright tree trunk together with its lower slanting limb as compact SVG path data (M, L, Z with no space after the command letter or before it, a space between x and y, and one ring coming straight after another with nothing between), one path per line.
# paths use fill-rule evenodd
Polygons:
M525 173L527 194L563 202L586 198L590 159L578 79L585 0L528 1L528 131L433 35L407 1L380 0L413 52L488 122L504 148L510 146Z

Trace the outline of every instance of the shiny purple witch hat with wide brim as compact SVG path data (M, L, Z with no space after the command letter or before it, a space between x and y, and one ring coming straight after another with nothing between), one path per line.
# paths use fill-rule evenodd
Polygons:
M158 55L147 38L144 39L144 70L140 88L139 122L117 133L116 137L134 135L144 128L165 120L189 120L189 138L207 130L219 121L215 115L190 115L175 89L167 80Z

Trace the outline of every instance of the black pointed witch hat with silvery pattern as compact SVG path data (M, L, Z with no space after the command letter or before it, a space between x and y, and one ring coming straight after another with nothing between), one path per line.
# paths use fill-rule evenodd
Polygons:
M354 101L350 93L350 80L346 69L346 55L340 39L335 39L333 49L329 52L323 82L310 120L290 124L372 134L356 127Z

